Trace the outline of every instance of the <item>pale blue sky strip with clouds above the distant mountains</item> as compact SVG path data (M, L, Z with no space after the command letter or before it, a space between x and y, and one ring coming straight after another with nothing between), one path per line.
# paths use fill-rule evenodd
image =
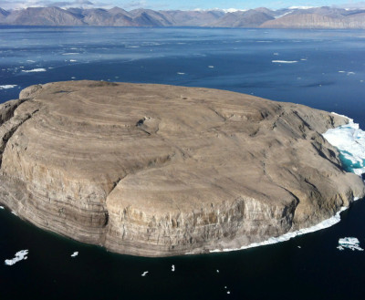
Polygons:
M26 7L103 7L119 6L126 10L135 8L150 8L154 10L167 9L250 9L267 7L270 9L287 8L292 6L338 6L344 8L365 8L365 2L350 0L0 0L0 7L16 9Z

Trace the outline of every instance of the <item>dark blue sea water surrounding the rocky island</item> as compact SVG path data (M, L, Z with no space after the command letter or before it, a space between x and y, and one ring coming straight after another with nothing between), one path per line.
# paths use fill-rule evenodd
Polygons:
M363 30L0 26L0 102L79 79L232 90L335 111L365 129ZM337 246L356 237L365 248L365 202L341 219L284 243L152 259L0 209L0 299L364 299L365 252ZM4 264L23 249L26 260Z

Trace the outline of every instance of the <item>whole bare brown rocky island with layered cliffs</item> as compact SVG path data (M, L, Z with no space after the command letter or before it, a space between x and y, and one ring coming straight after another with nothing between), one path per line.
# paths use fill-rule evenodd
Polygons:
M363 182L320 135L345 119L206 88L50 83L0 108L0 202L118 253L236 248L332 216Z

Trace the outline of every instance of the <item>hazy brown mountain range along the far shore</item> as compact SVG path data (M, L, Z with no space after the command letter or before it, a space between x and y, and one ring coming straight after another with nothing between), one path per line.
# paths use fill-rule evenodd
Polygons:
M206 26L264 28L365 28L365 9L334 7L265 7L225 12L224 10L160 10L120 7L68 8L28 7L6 11L0 8L0 25L21 26Z

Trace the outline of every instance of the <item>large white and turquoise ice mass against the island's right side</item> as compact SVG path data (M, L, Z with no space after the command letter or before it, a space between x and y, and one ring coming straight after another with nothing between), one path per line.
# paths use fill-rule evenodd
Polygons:
M359 128L359 124L349 119L346 125L328 129L323 137L339 150L339 158L346 171L359 176L365 172L365 131Z

